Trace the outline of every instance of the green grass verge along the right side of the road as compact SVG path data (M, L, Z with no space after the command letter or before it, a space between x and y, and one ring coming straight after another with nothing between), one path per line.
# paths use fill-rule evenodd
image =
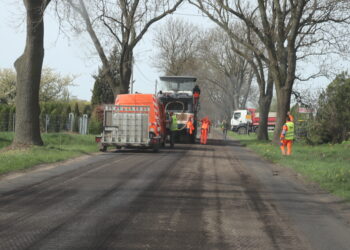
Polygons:
M350 141L318 146L295 142L293 154L286 157L281 155L278 146L271 142L259 142L255 134L248 136L230 132L230 136L264 158L293 168L323 189L350 201Z

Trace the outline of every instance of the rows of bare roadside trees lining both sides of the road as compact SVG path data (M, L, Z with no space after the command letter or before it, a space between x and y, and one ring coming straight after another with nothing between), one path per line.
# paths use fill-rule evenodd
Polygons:
M267 115L275 93L278 119L273 139L276 142L279 140L285 115L290 109L295 82L317 76L299 74L301 62L306 63L312 56L322 61L323 58L339 53L344 55L349 42L349 1L157 0L130 1L128 4L124 1L115 4L113 1L104 0L23 2L27 16L27 44L23 55L15 62L18 121L15 144L43 143L40 137L39 90L44 58L43 17L48 6L55 7L62 26L67 24L75 32L86 31L90 36L103 65L100 73L109 84L114 97L116 94L128 92L134 63L133 50L150 26L174 13L181 4L192 4L222 32L212 32L211 36L208 36L209 43L195 43L202 46L202 50L196 50L196 46L191 47L191 39L196 38L191 38L191 31L187 35L171 37L174 39L170 40L173 42L169 44L170 47L167 43L162 47L162 40L159 39L157 48L166 52L165 58L168 63L163 64L162 72L201 76L200 80L203 80L204 86L213 90L208 92L209 98L216 102L223 99L222 91L225 91L226 87L232 88L232 91L226 91L232 94L228 98L231 101L229 109L239 105L239 98L235 95L240 86L232 83L239 82L241 78L248 83L254 79L258 86L257 102L261 114L258 139L268 139ZM173 32L173 29L166 31ZM166 35L164 37L170 38ZM182 45L186 43L190 45L190 50L183 48ZM218 45L214 50L213 44ZM166 51L168 48L175 49ZM108 53L114 49L119 55L115 68L112 67L112 57L108 57ZM209 51L211 54L198 57L198 53L193 54L193 51ZM180 57L177 57L178 55ZM250 74L237 71L232 63L220 67L223 61L232 56L237 58L235 63L243 69L249 68L246 72ZM191 72L174 71L181 64L186 65L185 70L189 65L199 67L190 67L193 69ZM212 72L213 64L219 66L221 74L214 78L207 77ZM217 91L218 89L221 89L221 92Z

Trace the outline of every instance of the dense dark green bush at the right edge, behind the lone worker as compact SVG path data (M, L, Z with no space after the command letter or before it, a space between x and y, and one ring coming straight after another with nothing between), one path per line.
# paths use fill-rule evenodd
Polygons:
M310 125L309 141L341 143L350 138L350 78L342 73L319 98L316 118Z

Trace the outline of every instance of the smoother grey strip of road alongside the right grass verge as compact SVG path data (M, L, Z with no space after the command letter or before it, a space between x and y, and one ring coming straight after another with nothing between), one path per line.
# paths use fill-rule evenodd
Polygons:
M293 169L263 159L251 149L241 145L232 150L245 171L266 188L271 203L288 216L314 248L346 249L350 231L348 202L327 193ZM336 238L341 240L334 242Z

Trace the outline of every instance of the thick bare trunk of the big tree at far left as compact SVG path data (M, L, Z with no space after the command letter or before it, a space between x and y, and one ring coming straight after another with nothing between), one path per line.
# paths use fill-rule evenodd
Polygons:
M15 62L17 71L15 145L43 145L40 135L39 88L44 59L45 0L24 0L27 38L24 53Z

